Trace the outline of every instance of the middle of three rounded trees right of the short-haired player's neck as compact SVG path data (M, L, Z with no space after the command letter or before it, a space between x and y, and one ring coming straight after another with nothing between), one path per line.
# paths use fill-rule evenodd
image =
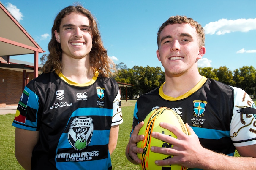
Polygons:
M213 72L218 77L218 81L225 83L227 85L234 86L236 83L233 80L232 71L229 70L226 66L221 66L219 69L213 69Z

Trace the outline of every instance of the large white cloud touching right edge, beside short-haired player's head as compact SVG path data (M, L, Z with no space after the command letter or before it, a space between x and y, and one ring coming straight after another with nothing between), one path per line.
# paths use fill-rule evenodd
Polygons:
M250 30L256 30L256 18L252 19L237 19L227 20L220 19L216 22L210 22L203 27L205 34L217 34L224 35L231 32L248 32Z

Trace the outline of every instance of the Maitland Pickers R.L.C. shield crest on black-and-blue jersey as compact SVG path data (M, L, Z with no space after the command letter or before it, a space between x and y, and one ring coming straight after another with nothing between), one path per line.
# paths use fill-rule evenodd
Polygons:
M93 121L90 117L76 117L72 120L68 140L75 150L83 150L91 142Z

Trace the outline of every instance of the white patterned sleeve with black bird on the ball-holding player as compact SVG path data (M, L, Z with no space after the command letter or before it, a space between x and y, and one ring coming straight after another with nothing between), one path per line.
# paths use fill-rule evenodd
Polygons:
M249 95L234 88L234 110L230 123L230 137L234 146L256 144L256 106Z

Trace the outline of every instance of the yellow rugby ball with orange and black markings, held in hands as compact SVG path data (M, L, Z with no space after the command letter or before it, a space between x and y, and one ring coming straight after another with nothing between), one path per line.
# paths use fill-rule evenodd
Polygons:
M151 137L152 132L159 132L177 138L177 136L174 135L173 132L170 132L169 130L160 127L160 122L167 122L173 124L188 135L188 131L183 120L172 109L167 107L160 107L151 111L145 118L144 125L139 131L139 135L145 136L145 139L143 141L137 143L137 147L143 148L144 150L143 153L137 153L138 158L142 160L142 163L139 165L141 170L162 170L162 166L157 166L155 164L155 161L164 160L172 157L170 155L151 152L151 146L173 147L173 145L169 143ZM186 167L177 164L164 167L165 168L163 169L168 169L169 167L169 169L171 170L187 170Z

